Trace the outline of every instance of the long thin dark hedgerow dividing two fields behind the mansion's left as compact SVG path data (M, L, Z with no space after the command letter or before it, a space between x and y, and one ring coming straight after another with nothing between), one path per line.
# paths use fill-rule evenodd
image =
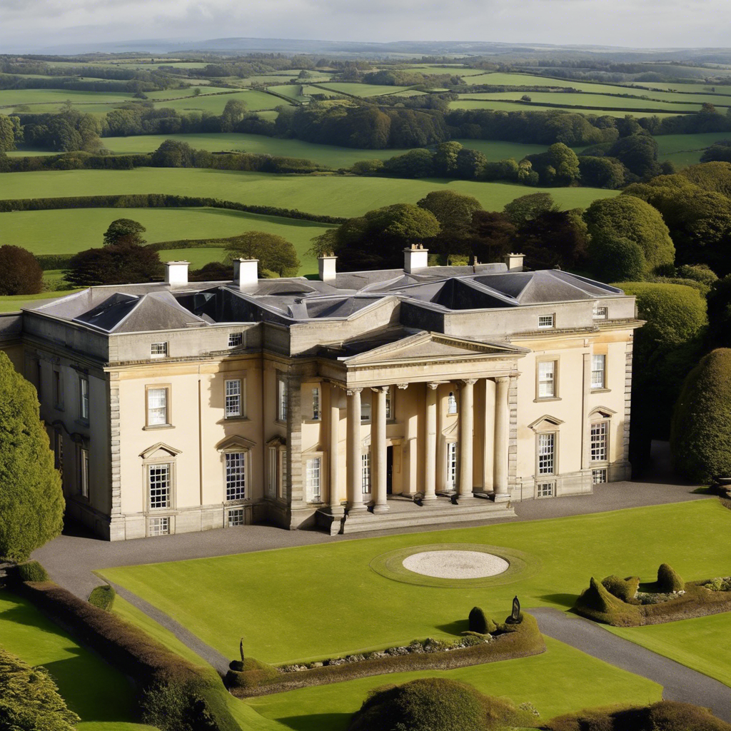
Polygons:
M273 205L246 205L246 203L239 203L234 200L164 193L78 195L59 198L0 200L0 213L8 213L9 211L56 211L61 208L225 208L228 211L259 213L262 216L281 216L287 219L303 219L324 224L342 224L348 220L340 216L303 213L296 208L276 208Z

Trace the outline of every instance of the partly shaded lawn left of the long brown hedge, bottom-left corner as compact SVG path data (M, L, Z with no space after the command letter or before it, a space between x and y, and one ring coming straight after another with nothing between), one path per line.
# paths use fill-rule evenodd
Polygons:
M79 731L152 728L135 723L135 689L124 675L8 591L0 591L0 645L48 668L69 708L83 719Z

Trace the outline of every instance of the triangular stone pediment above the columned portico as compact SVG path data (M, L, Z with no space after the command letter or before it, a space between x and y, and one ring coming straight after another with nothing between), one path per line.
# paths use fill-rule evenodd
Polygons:
M528 349L519 346L455 338L442 333L417 333L341 360L347 366L363 366L409 361L428 363L440 360L480 360L482 357L522 357L527 352Z

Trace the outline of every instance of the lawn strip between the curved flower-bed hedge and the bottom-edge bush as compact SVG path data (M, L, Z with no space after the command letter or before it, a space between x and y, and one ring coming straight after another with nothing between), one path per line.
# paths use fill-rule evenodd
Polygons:
M459 670L390 673L371 678L316 686L246 700L267 719L295 731L344 731L352 713L371 689L415 678L438 677L470 683L481 692L515 703L531 702L547 720L561 713L599 705L661 700L661 686L601 662L546 637L542 655L504 660ZM591 678L591 682L587 682Z

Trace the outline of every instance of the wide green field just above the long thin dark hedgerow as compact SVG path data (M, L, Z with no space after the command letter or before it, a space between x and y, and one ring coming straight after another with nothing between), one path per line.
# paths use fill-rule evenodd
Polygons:
M202 195L252 205L276 205L330 216L360 216L366 211L392 203L415 203L428 192L444 188L473 195L488 211L501 210L506 203L519 196L542 190L550 192L563 208L586 208L597 198L618 194L618 191L596 188L540 189L510 183L358 178L341 175L276 175L192 168L53 170L0 175L0 200L61 197L69 193L111 195L159 192Z

